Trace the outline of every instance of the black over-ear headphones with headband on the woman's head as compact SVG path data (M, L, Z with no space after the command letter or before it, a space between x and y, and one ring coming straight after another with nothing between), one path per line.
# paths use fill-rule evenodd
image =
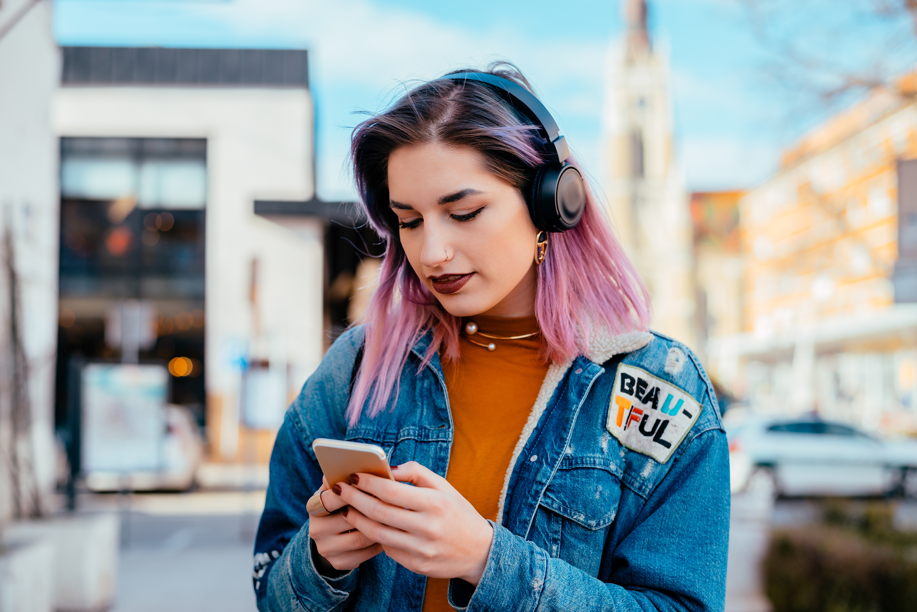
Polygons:
M538 169L526 194L532 223L545 232L566 232L576 227L586 208L586 186L580 171L567 163L567 140L560 136L558 122L547 112L544 104L519 83L487 72L458 72L443 79L477 81L491 87L526 119L538 126L538 135L547 161Z

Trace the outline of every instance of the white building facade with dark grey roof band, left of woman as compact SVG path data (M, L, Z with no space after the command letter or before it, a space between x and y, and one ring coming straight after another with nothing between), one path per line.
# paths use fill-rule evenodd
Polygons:
M169 335L173 324L181 329L183 313L193 312L182 303L203 300L203 321L199 316L188 320L195 327L203 323L205 359L199 361L204 366L204 422L211 456L232 461L242 454L264 455L270 440L262 441L260 449L242 448L240 423L248 423L243 429L249 430L276 428L290 397L323 354L324 222L304 219L293 232L256 216L253 209L255 200L299 201L314 195L306 52L65 48L52 125L64 143L83 148L100 143L101 152L63 160L65 179L71 166L75 173L75 191L64 192L63 202L70 196L87 202L126 201L128 217L142 216L145 225L135 222L134 233L140 236L133 237L128 251L138 248L146 257L147 251L162 246L148 243L160 234L163 240L168 237L150 227L154 217L148 209L168 209L176 220L181 211L200 209L205 218L203 286L194 289L189 282L184 289L163 290L169 278L181 277L170 268L149 272L149 282L139 283L136 296L105 290L83 295L78 289L61 296L61 304L72 304L78 321L105 316L101 309L110 308L111 300L149 301L158 311L160 335L149 352L158 351L168 360L180 355L169 353L169 345L163 350L161 336ZM144 158L138 162L137 180L118 183L117 177L105 174L116 162L105 148L124 142L160 150L184 150L197 143L205 154L194 162ZM197 174L193 163L200 168ZM93 189L101 191L88 192ZM172 196L170 189L175 191ZM145 195L152 191L159 193L159 200ZM193 193L201 197L188 195ZM155 218L159 224L160 217ZM157 284L157 274L166 280ZM244 384L243 378L255 370L259 376ZM246 397L251 400L246 402Z

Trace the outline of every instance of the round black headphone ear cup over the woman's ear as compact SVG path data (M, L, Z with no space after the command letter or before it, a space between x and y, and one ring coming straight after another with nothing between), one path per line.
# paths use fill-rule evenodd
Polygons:
M586 185L580 170L564 162L547 163L532 181L529 213L546 232L566 232L580 223L586 210Z

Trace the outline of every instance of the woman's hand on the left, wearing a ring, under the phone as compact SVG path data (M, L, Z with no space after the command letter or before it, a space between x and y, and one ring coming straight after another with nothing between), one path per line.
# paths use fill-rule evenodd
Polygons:
M342 512L335 511L343 508L347 502L329 490L324 477L322 488L318 490L327 491L322 493L322 505L332 513L326 517L309 517L309 537L315 541L315 550L318 552L315 565L319 574L334 575L338 573L336 570L352 570L382 552L381 544L353 530Z

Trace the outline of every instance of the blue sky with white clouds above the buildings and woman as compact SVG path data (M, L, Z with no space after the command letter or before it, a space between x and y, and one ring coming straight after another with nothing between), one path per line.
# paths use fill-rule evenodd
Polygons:
M656 0L668 49L676 151L691 189L749 187L798 136L768 86L736 0ZM605 54L621 33L614 0L56 0L64 45L303 48L318 111L318 190L352 195L344 162L355 110L400 84L512 60L534 82L586 169L600 174Z

